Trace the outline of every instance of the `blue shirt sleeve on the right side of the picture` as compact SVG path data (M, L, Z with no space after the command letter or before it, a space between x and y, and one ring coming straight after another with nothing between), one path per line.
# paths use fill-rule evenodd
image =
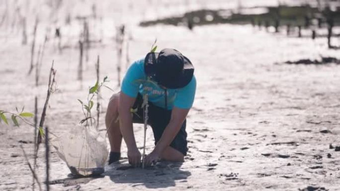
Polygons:
M173 105L181 109L190 109L195 98L195 92L196 78L193 76L188 85L178 90Z

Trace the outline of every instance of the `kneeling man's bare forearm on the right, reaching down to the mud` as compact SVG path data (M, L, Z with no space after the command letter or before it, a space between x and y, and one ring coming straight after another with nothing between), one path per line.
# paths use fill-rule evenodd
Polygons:
M154 150L146 158L145 162L147 166L150 166L153 162L156 162L160 158L161 154L170 145L173 138L180 130L188 113L189 109L173 107L168 126L164 129L164 132Z

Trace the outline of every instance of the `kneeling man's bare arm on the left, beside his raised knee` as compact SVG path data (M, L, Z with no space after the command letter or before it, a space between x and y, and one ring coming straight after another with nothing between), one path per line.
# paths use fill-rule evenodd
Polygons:
M130 113L130 109L133 106L135 100L136 98L130 97L123 92L120 92L118 113L120 131L128 148L129 163L133 166L139 166L141 162L141 153L139 152L136 145L132 126L132 116Z

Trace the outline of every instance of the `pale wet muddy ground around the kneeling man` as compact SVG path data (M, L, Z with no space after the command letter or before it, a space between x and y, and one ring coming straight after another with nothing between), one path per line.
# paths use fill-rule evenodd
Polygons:
M340 65L288 65L285 61L339 58L326 48L326 39L287 38L251 26L186 28L134 27L131 60L139 59L157 37L160 48L172 47L195 66L197 91L187 118L188 155L184 163L159 163L151 169L128 168L126 159L106 166L100 178L72 179L69 169L51 150L51 190L230 190L297 191L307 187L340 190ZM166 31L166 32L165 32ZM41 111L48 69L55 60L58 91L51 97L46 125L62 136L82 119L76 99L85 99L95 81L94 62L101 58L101 75L108 75L116 91L116 52L112 39L90 51L85 64L83 89L77 81L79 53L62 54L49 43L44 57L41 85L27 76L30 47L12 38L0 49L0 109L23 106L33 112L34 95ZM72 43L72 42L71 42ZM335 44L339 39L335 39ZM102 91L105 111L109 90ZM100 129L105 129L104 113ZM104 135L105 131L101 133ZM143 129L135 126L138 146ZM148 129L147 150L153 148ZM33 129L26 125L0 125L0 190L31 190L32 176L19 145L32 162ZM328 157L328 154L329 157ZM126 146L123 144L123 157ZM39 151L38 175L45 177L44 148ZM322 189L321 189L322 190Z

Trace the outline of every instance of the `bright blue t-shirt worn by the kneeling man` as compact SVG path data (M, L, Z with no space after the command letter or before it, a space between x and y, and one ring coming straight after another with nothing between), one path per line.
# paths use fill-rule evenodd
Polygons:
M137 94L148 94L149 102L158 107L165 108L165 89L157 85L156 82L147 81L144 72L144 59L134 62L126 72L121 91L130 97L137 97ZM184 87L178 89L167 89L167 106L171 110L173 106L181 109L192 107L196 92L196 79Z

